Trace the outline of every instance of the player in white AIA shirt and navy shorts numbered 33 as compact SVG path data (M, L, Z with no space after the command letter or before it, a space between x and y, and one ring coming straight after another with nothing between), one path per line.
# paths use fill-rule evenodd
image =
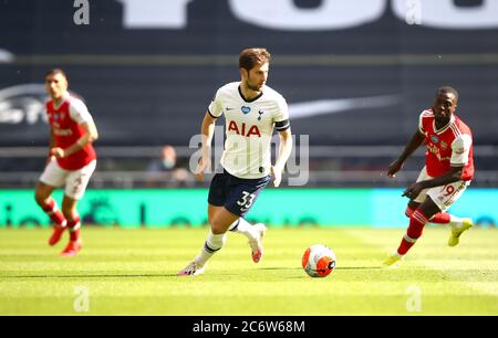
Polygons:
M206 262L226 242L227 232L245 234L249 239L252 261L263 254L262 236L267 228L249 224L243 216L273 176L280 186L282 171L292 151L292 135L286 99L266 86L270 53L266 49L247 49L239 55L240 82L229 83L216 93L203 125L201 159L196 177L204 180L210 168L210 147L218 117L225 115L226 142L221 156L222 173L212 178L208 198L210 232L199 254L178 276L204 273ZM276 163L271 166L271 138L277 129L280 146Z

